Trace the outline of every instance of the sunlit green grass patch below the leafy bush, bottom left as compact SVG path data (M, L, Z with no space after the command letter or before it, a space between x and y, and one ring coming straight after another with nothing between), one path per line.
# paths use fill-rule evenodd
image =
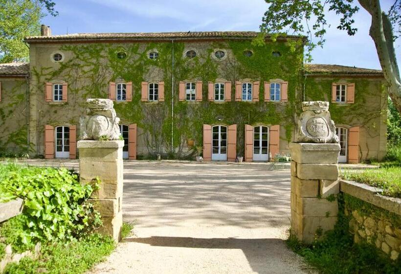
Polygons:
M47 243L37 260L27 257L7 265L4 274L81 274L101 262L115 248L111 237L89 234L79 241Z

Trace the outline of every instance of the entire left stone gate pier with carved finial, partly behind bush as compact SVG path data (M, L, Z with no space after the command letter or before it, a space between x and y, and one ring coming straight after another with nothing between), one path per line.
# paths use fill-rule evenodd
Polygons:
M99 188L89 200L100 212L103 227L98 232L121 239L123 194L123 146L118 128L119 118L109 99L88 99L86 115L80 119L78 141L81 183L100 180Z

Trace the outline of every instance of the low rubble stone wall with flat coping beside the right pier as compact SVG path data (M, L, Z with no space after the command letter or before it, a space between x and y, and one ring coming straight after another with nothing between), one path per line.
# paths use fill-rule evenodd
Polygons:
M401 199L381 196L382 189L340 181L344 213L354 242L366 241L397 260L401 253Z

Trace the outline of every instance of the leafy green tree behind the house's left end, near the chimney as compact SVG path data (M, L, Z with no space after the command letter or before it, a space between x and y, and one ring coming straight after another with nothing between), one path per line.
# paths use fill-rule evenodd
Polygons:
M0 63L28 59L29 49L22 40L40 33L45 12L58 14L54 5L51 0L0 0Z

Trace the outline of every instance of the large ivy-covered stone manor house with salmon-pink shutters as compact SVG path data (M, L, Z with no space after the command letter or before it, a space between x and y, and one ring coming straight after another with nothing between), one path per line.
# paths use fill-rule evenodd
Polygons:
M194 159L198 149L204 160L268 161L289 154L300 103L324 100L341 162L383 158L380 70L304 64L304 37L254 45L257 35L51 35L42 25L25 38L29 63L0 64L0 154L75 159L86 99L110 98L127 159Z

